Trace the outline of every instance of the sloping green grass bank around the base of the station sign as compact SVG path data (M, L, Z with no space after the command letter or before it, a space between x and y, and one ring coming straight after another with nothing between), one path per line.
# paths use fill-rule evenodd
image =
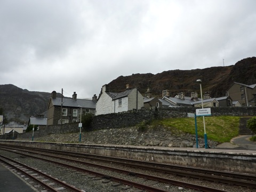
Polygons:
M207 138L217 142L229 142L238 135L240 117L233 116L207 116L205 130ZM164 125L175 132L195 134L195 118L169 118L153 122L153 125ZM198 137L204 137L203 117L197 117Z

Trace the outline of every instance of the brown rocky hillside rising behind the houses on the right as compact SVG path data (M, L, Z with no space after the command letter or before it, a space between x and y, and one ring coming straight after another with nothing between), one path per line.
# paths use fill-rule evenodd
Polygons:
M209 92L211 97L225 96L226 91L233 82L247 85L256 83L256 57L243 59L233 66L211 67L194 70L169 70L153 74L132 74L120 76L109 83L111 92L124 91L126 84L138 87L143 95L148 87L153 95L162 97L162 90L170 90L174 97L178 92L190 96L190 92L200 92L197 79L201 79L203 92Z

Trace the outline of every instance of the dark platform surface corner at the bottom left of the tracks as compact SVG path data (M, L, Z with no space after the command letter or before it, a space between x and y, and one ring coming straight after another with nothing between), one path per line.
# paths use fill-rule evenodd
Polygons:
M0 191L4 192L35 192L37 190L29 186L17 174L0 164Z

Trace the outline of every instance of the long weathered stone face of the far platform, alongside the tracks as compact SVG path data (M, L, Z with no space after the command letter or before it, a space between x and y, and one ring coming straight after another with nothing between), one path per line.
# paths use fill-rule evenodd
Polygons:
M51 143L26 141L0 141L2 145L19 145L30 148L73 151L85 154L121 157L139 161L166 163L172 165L202 167L256 174L255 153L241 151L219 151L214 149L164 148L119 145L91 145L83 143Z

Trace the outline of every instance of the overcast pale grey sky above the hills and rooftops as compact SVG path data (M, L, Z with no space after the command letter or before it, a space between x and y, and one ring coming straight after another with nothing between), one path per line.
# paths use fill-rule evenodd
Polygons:
M92 98L132 74L256 55L255 0L0 0L0 84ZM125 87L125 85L124 85Z

